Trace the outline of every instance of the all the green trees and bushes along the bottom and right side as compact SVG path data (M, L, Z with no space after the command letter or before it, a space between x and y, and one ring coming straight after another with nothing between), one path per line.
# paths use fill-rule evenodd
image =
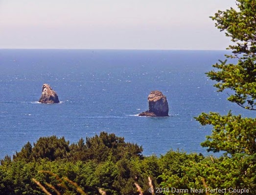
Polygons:
M211 17L215 26L233 41L232 55L213 65L207 73L219 92L229 89L228 100L256 110L256 0L236 0L237 8L218 11ZM228 59L237 59L229 64ZM170 150L164 156L143 156L142 147L127 143L123 137L102 132L99 136L70 144L64 137L41 137L29 142L13 158L5 156L0 165L0 195L43 195L48 192L78 195L75 182L88 195L136 195L138 183L144 195L148 176L155 188L169 189L158 194L241 194L256 195L256 118L234 116L230 111L202 113L195 117L202 125L211 125L212 134L201 145L208 151L223 152L220 157L186 154ZM53 188L54 187L54 188ZM171 188L188 189L173 193ZM190 189L226 189L194 192ZM246 190L246 191L245 191ZM232 192L236 192L232 191ZM141 193L140 193L141 194ZM234 193L235 194L235 193Z

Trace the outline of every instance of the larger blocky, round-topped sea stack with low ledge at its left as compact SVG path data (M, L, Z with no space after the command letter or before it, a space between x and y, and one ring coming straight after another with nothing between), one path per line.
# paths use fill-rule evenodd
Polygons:
M169 112L168 102L160 91L152 91L148 96L148 110L139 116L167 117Z

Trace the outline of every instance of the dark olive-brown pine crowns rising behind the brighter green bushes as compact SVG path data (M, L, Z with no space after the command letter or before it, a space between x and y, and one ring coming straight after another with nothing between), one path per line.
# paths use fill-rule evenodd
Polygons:
M71 145L69 143L64 137L40 137L34 143L34 147L27 142L20 152L16 152L13 160L30 162L47 158L51 161L67 159L76 162L93 159L96 162L104 162L112 156L112 160L116 162L123 157L142 157L143 151L138 144L125 142L123 137L117 137L115 134L106 132L101 132L99 136L86 137L86 143L84 143L83 138L77 143ZM1 160L1 164L9 161L10 156L5 156Z

